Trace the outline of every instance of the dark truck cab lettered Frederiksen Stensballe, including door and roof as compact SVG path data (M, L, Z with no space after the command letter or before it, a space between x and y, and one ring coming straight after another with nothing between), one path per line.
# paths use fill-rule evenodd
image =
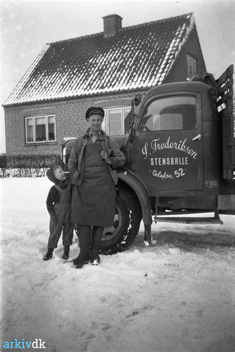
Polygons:
M185 82L146 94L134 127L131 169L145 180L151 196L195 195L208 188L205 180L218 180L219 149L212 137L219 126L208 90L203 83ZM218 192L218 181L214 187Z

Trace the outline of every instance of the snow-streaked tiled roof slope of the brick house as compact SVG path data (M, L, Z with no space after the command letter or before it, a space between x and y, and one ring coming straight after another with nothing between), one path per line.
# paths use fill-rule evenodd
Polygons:
M47 44L3 106L159 85L193 25L188 13Z

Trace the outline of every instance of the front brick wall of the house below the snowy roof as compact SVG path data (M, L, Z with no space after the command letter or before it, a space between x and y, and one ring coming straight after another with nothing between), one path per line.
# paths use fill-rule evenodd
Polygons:
M131 91L87 97L80 99L67 99L61 101L41 102L5 107L5 134L6 154L47 154L61 153L63 138L77 137L88 128L85 112L90 106L123 106L130 105L131 99L137 93L146 92ZM25 143L25 117L55 113L56 115L56 142L49 143Z

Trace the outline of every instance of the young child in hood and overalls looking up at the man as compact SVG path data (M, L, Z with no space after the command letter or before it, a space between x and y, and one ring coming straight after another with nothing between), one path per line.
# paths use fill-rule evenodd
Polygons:
M71 192L70 183L61 166L55 165L47 171L47 177L55 185L49 191L47 197L47 210L50 214L50 236L48 240L48 251L43 256L43 260L52 258L53 251L62 232L62 244L64 251L62 258L68 259L69 246L72 244L73 224L70 219L71 212Z

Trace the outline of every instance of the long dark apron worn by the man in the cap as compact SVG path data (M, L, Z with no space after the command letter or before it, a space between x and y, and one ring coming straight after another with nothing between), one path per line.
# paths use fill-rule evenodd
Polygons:
M84 173L80 186L73 186L72 222L77 225L112 226L115 215L116 189L109 166L101 158L99 141L84 150Z

